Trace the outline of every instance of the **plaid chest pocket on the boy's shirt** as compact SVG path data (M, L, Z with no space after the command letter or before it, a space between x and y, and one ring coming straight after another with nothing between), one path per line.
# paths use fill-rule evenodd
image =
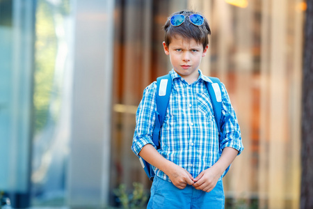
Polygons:
M214 116L209 93L198 93L197 102L199 116L203 119L206 119L207 121L212 121Z

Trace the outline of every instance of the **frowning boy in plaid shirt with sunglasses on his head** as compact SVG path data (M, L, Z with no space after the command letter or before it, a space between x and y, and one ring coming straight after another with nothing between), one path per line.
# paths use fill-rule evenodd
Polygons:
M221 85L222 141L199 65L208 50L209 24L199 13L174 13L163 27L163 48L172 64L172 90L161 126L161 148L152 143L156 82L145 88L136 113L131 149L156 173L147 208L224 208L222 178L243 150L234 109ZM225 116L230 118L225 121ZM228 117L227 117L228 118Z

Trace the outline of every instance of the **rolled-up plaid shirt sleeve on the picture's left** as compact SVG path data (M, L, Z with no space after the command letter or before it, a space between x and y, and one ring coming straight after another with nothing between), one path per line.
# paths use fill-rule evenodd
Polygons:
M146 144L153 144L152 132L154 127L156 110L155 93L157 82L153 82L143 91L143 99L138 105L136 112L136 128L134 132L131 150L138 155ZM154 146L155 147L155 146Z

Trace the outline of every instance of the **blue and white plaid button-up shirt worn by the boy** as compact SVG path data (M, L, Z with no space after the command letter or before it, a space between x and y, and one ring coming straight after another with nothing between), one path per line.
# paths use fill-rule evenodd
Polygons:
M159 153L167 160L186 169L193 178L218 161L223 148L232 147L243 150L241 133L236 114L230 103L224 84L222 93L222 118L230 114L230 120L223 128L223 140L218 141L218 127L214 118L209 93L204 82L211 82L202 75L197 82L188 84L175 70L170 72L172 91L163 126L160 132L161 148ZM136 155L146 144L153 144L154 111L156 111L155 95L157 82L153 82L143 92L143 99L136 113L136 129L131 150ZM155 146L154 146L155 147ZM163 171L154 167L159 178L168 180ZM225 175L227 171L223 173ZM222 176L222 177L223 177ZM222 178L221 177L221 178Z

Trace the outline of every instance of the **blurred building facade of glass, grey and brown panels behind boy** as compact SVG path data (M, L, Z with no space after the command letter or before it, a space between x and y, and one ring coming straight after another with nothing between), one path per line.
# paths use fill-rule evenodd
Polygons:
M171 69L162 26L209 21L200 69L225 84L245 150L227 206L298 208L305 3L300 0L0 1L0 191L13 206L118 206L143 184L130 146L145 86Z

